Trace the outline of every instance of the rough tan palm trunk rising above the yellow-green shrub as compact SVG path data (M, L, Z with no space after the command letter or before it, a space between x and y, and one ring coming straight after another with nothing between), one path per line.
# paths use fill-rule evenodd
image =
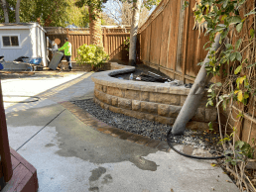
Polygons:
M101 10L91 9L89 7L89 25L90 44L103 48Z

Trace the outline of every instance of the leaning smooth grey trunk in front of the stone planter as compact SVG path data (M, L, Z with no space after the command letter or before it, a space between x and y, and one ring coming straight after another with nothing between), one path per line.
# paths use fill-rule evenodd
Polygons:
M220 34L218 34L215 37L214 44L211 46L206 57L204 58L203 64L200 67L200 70L199 70L198 74L196 75L196 78L192 85L190 94L188 95L188 97L182 107L182 110L179 113L179 115L175 121L173 130L172 130L172 134L175 136L184 134L186 124L192 119L192 117L194 116L194 114L199 106L199 102L204 94L205 84L207 84L212 77L212 74L207 75L207 72L205 69L205 66L206 66L205 64L207 62L209 62L209 58L208 58L209 52L211 50L217 50L220 47L219 39L220 39Z

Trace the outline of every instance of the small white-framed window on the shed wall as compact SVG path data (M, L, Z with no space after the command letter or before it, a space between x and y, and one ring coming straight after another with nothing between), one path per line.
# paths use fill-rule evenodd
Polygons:
M20 35L0 35L2 48L20 48Z

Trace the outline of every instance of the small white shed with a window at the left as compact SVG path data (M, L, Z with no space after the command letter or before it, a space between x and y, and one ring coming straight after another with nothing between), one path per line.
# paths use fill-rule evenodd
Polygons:
M20 56L42 57L47 66L46 33L38 23L0 24L0 56L6 61Z

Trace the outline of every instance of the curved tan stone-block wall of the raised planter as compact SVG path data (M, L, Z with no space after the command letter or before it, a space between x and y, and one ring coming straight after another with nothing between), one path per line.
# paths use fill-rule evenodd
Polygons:
M133 72L134 66L110 62L111 70L94 73L94 102L103 109L121 113L137 119L146 119L173 125L190 93L185 86L170 86L168 83L122 80L111 75ZM208 122L214 122L217 112L214 107L205 107L207 92L199 108L187 124L189 129L208 129Z

